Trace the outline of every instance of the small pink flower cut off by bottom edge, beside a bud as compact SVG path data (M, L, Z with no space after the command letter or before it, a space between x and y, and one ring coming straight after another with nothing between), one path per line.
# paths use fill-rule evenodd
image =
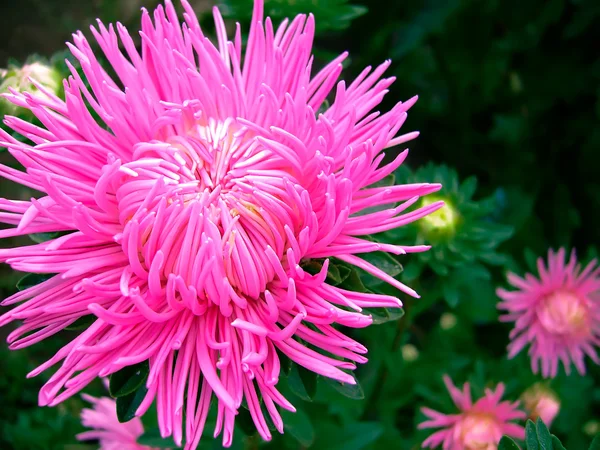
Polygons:
M525 438L525 429L511 420L524 419L525 413L517 409L519 402L501 402L504 394L502 383L496 390L485 390L485 396L475 403L471 401L469 383L462 392L452 384L450 377L444 376L444 383L450 396L460 410L458 414L442 414L429 408L422 408L430 420L419 424L418 428L442 428L423 442L423 448L444 450L495 450L504 435L518 439Z

